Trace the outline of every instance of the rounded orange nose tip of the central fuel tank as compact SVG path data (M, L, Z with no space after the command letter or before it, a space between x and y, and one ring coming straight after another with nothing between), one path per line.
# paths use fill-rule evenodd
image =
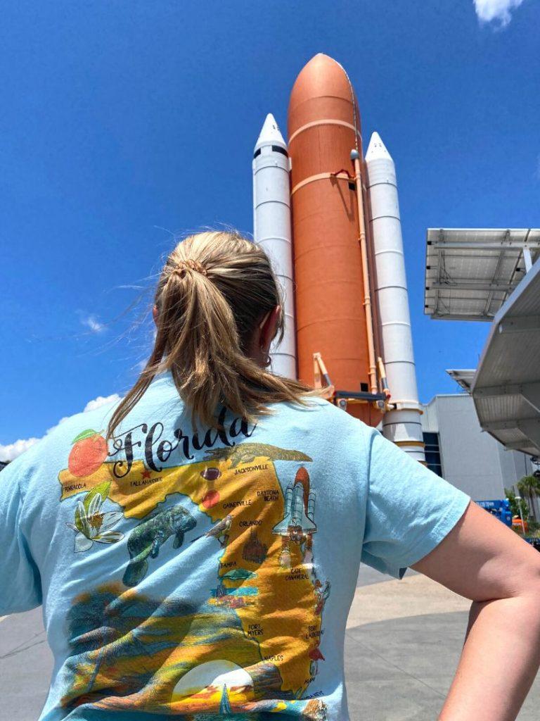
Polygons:
M319 53L302 68L289 100L289 138L300 125L326 118L349 121L351 106L358 103L346 71L336 60Z

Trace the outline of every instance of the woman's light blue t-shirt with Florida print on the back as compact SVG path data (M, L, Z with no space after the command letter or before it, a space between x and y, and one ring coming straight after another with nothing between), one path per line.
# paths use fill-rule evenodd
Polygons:
M43 604L40 719L348 719L361 561L401 578L469 496L323 400L194 433L168 373L104 441L61 423L0 474L0 615Z

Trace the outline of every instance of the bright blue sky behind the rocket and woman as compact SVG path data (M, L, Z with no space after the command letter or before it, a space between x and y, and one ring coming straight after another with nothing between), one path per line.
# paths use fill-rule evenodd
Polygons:
M426 227L539 224L539 0L44 0L2 15L0 444L135 380L151 342L148 291L123 314L136 288L172 233L251 231L253 145L267 112L286 128L318 52L351 76L364 147L377 130L397 165L420 399L456 391L445 368L475 367L487 325L423 315Z

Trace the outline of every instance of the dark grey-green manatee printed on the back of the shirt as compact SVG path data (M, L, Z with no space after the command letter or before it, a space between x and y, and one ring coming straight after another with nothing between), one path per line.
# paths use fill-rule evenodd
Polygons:
M139 523L127 539L130 562L125 570L124 585L135 586L140 583L148 571L148 556L156 558L161 546L173 535L173 548L180 548L184 534L196 525L197 521L192 514L180 503Z

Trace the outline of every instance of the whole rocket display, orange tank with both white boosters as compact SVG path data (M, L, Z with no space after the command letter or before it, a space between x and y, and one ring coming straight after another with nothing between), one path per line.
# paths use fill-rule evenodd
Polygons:
M330 400L382 421L387 438L423 461L392 158L374 133L362 162L354 89L322 53L294 83L288 125L290 162L271 115L253 158L253 235L287 298L274 369L324 381Z

